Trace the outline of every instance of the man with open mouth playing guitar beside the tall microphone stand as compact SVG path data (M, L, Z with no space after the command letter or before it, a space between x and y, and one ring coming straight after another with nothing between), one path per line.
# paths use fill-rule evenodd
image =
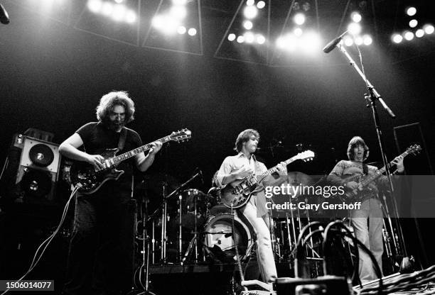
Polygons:
M360 209L350 211L350 223L353 226L355 237L372 252L382 271L382 253L384 252L382 243L383 213L380 201L377 199L377 192L379 185L387 184L387 177L379 177L376 182L368 184L367 187L361 187L358 180L353 177L370 176L377 172L376 167L364 164L369 155L369 148L363 138L355 136L348 144L347 153L349 160L338 162L328 175L328 181L335 186L341 185L348 191L358 191L358 201L362 203ZM402 155L395 157L391 163L397 165L397 172L404 172ZM375 267L372 265L370 257L359 247L358 253L360 256L358 272L361 282L364 284L377 279Z

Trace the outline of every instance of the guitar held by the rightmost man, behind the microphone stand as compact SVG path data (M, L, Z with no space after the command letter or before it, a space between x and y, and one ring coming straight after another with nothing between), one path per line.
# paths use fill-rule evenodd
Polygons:
M406 157L407 155L415 155L420 151L421 151L421 147L419 145L412 145L408 147L407 150L403 152L399 157ZM390 162L388 166L393 167L394 166L393 162ZM370 191L370 189L367 189L367 186L372 182L374 182L379 177L381 177L385 173L385 170L387 170L387 168L384 166L381 169L378 169L375 173L370 175L357 174L357 175L352 175L350 177L345 177L344 183L354 181L358 183L358 187L356 189L345 191L345 196L343 197L353 199L355 201L360 201L364 198L364 196L372 194L372 191ZM358 188L361 188L363 190L361 191Z

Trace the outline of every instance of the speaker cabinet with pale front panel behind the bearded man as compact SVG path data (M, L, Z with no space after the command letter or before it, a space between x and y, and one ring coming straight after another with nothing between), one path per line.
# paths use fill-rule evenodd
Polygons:
M25 202L53 201L60 169L59 145L23 136L16 184Z

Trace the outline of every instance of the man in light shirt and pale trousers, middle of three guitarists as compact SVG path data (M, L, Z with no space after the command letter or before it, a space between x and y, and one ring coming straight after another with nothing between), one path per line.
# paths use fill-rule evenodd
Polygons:
M227 184L237 182L239 179L245 179L252 174L262 174L267 171L266 166L257 161L254 152L257 150L259 143L259 133L257 130L247 129L242 131L235 142L235 150L238 152L235 156L226 157L222 162L218 172L217 184L219 187L225 187ZM284 182L286 180L287 168L280 164L277 166L279 174L282 177L274 179L267 177L264 179L263 186L272 185L272 182ZM284 180L283 180L284 179ZM272 180L272 182L271 182ZM270 237L269 212L266 208L266 197L264 192L260 191L250 197L247 204L240 208L243 215L247 218L254 228L257 235L257 259L259 272L262 275L264 282L272 284L276 279L276 265L274 261L274 253L272 251L272 241ZM253 255L251 255L252 258ZM252 265L248 262L248 265ZM252 272L252 269L246 269L246 272ZM249 279L258 279L257 277L249 277Z

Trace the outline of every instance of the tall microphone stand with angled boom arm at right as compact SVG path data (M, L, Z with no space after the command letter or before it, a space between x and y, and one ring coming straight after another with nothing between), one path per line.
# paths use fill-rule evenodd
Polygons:
M368 94L364 94L364 98L367 101L367 107L371 107L372 108L372 116L373 116L373 121L375 123L375 129L376 129L376 134L377 134L377 141L378 141L378 144L379 144L379 147L380 147L380 152L381 152L381 156L382 156L382 162L384 164L384 167L387 167L385 172L387 174L388 184L389 184L389 187L390 187L390 192L392 194L392 204L394 206L394 212L396 213L396 216L398 218L399 217L399 212L397 211L396 199L394 198L394 188L393 188L393 185L392 185L391 173L390 173L390 169L389 169L390 168L390 165L389 165L390 162L388 162L387 155L385 153L385 143L384 143L384 140L382 138L382 130L381 130L381 127L380 127L379 116L377 115L376 101L380 102L382 107L390 115L391 118L396 118L396 115L394 115L392 110L387 106L387 104L385 104L385 101L382 99L382 96L379 94L379 92L377 92L375 87L373 87L372 83L370 83L370 81L367 79L367 77L365 76L365 73L363 72L364 71L364 67L363 67L363 71L361 71L360 68L358 67L358 65L356 65L356 63L353 60L353 58L345 50L343 44L338 43L335 46L338 48L338 50L343 52L345 57L348 58L349 64L358 72L358 74L360 74L360 77L364 80L365 86L367 87ZM359 48L358 48L358 52L359 52L360 57L361 57L361 52L360 52ZM404 236L403 236L403 233L402 233L402 227L400 225L399 225L399 235L400 235L400 238L402 240L401 242L402 242L402 245L403 245L404 256L405 256L403 258L403 260L405 260L405 258L407 258L408 255L407 255L406 247L404 245Z

